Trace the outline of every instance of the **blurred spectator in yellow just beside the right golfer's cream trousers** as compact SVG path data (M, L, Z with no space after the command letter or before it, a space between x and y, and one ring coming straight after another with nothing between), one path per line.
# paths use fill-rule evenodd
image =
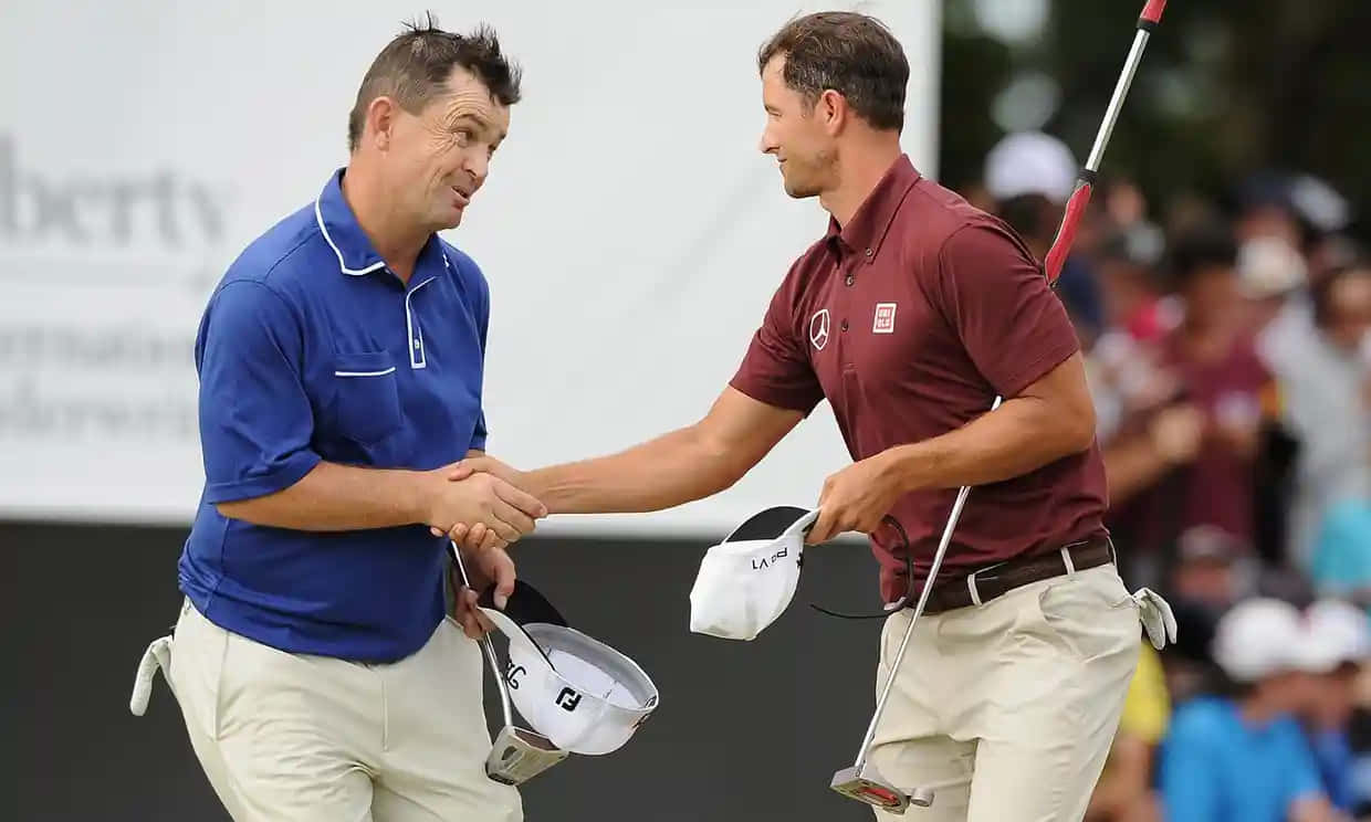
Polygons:
M1167 733L1171 699L1161 659L1142 644L1138 670L1128 686L1119 732L1105 760L1084 822L1160 822L1161 807L1152 790L1152 763Z

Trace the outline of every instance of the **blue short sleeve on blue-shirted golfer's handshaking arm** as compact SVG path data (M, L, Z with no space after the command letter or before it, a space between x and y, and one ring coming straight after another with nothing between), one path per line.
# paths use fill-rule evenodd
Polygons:
M196 344L206 501L282 490L319 463L303 348L299 316L270 288L230 282L211 299Z

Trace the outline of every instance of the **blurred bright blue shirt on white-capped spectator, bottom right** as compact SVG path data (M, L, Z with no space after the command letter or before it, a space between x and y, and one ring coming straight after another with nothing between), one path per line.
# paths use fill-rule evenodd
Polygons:
M1233 700L1187 703L1161 747L1167 822L1285 822L1300 799L1323 796L1300 725L1242 719Z

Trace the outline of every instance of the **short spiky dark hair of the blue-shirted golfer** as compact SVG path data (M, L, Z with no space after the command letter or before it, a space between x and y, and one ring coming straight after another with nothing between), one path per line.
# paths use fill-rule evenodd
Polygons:
M406 23L406 30L372 62L347 118L348 151L355 151L362 140L372 100L395 97L400 108L418 114L444 90L454 66L474 74L500 105L518 103L521 70L500 52L495 30L483 25L470 34L452 34L439 29L429 12L422 23Z

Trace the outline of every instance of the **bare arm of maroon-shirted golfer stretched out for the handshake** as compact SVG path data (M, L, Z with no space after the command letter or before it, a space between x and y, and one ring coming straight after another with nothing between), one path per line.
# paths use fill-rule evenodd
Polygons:
M803 414L728 386L709 414L610 456L509 477L553 514L659 511L718 493L753 469Z

